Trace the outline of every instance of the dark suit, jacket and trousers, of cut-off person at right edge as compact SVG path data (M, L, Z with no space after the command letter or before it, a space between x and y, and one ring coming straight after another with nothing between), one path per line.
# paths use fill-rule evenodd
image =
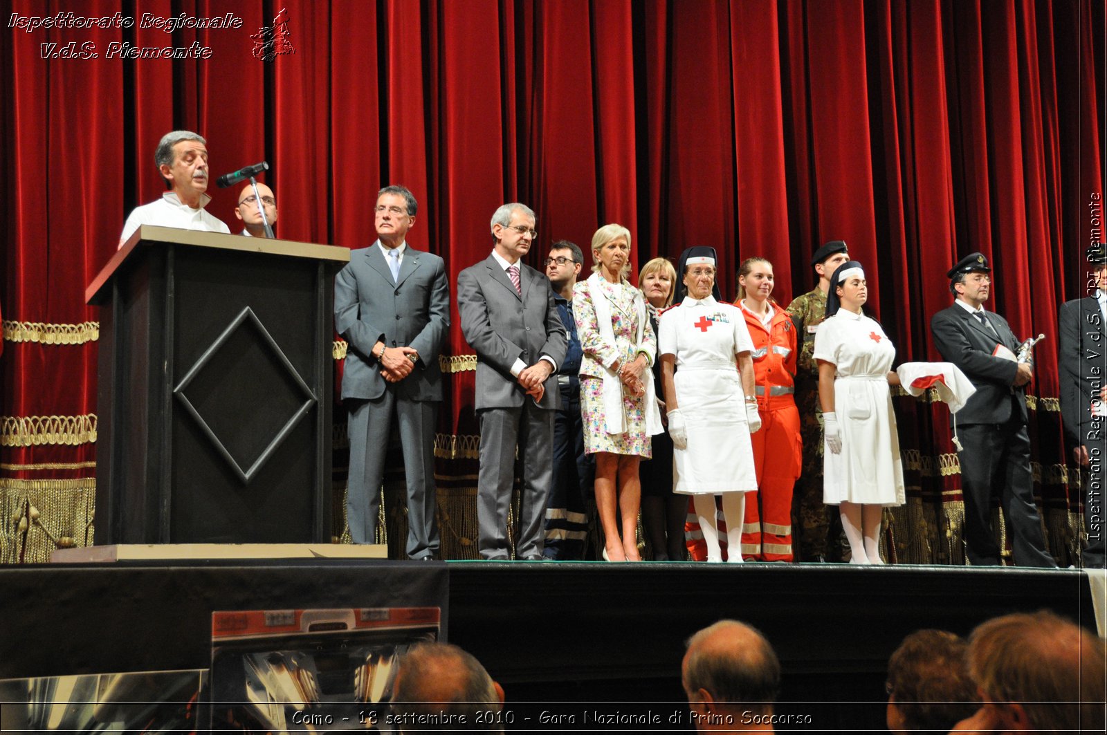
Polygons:
M1061 415L1072 447L1087 448L1092 460L1085 483L1084 526L1088 545L1085 567L1104 566L1104 463L1107 463L1107 420L1092 415L1092 403L1107 377L1107 328L1095 298L1061 304Z

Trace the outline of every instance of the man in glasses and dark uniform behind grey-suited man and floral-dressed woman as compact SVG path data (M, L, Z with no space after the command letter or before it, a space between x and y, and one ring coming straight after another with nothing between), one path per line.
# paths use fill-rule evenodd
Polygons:
M557 371L561 407L554 418L554 480L546 504L546 548L550 559L582 559L588 536L584 496L592 486L594 462L584 454L584 425L580 414L580 359L583 354L572 313L572 287L584 253L576 244L558 240L546 258L546 277L554 287L554 301L565 327L567 350Z

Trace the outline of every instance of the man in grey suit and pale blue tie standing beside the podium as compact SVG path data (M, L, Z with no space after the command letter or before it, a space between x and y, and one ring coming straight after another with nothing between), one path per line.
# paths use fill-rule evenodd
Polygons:
M377 240L350 253L334 277L334 324L349 344L342 398L350 413L346 518L354 544L373 544L393 422L407 478L407 556L438 556L434 429L442 402L438 353L449 328L449 286L436 255L405 242L415 197L402 186L376 196Z

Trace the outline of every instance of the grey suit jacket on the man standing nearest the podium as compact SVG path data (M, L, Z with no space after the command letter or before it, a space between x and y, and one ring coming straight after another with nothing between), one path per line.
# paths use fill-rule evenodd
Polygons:
M343 398L377 398L394 390L413 401L442 400L438 353L449 329L445 265L408 245L397 281L376 242L351 252L350 262L334 277L334 329L349 344ZM415 370L399 383L385 381L372 356L377 341L415 348Z

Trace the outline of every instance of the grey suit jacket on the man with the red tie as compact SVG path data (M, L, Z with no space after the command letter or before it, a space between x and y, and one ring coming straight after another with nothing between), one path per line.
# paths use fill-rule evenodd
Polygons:
M549 355L555 368L565 360L565 325L549 279L530 266L519 266L521 296L492 255L457 277L462 333L477 353L477 411L523 405L526 391L511 376L516 359L532 365ZM557 370L545 385L539 406L559 407Z

